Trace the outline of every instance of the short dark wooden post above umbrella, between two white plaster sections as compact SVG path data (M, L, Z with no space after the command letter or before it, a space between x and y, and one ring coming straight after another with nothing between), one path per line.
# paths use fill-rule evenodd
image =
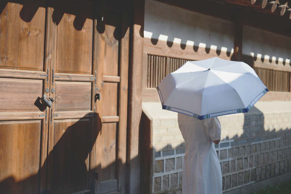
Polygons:
M242 25L235 20L233 60L242 61Z

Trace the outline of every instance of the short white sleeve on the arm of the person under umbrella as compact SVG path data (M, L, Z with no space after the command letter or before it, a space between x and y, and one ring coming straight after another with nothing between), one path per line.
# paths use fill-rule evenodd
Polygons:
M217 117L207 118L203 121L203 124L211 140L221 139L221 125Z

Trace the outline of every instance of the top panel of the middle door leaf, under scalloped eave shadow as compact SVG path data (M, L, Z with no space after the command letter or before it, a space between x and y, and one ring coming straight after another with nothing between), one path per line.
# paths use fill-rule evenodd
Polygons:
M56 73L92 74L92 4L58 1Z

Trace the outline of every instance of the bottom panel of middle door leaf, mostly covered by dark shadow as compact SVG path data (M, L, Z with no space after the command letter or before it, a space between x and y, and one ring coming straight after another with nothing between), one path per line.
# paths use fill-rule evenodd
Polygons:
M52 191L88 190L92 118L54 120Z

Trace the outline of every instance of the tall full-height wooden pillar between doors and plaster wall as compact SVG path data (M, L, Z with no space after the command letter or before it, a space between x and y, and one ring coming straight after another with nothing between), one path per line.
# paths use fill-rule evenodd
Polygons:
M139 125L142 102L143 25L144 0L130 0L132 22L130 25L128 120L127 120L127 193L140 193Z

